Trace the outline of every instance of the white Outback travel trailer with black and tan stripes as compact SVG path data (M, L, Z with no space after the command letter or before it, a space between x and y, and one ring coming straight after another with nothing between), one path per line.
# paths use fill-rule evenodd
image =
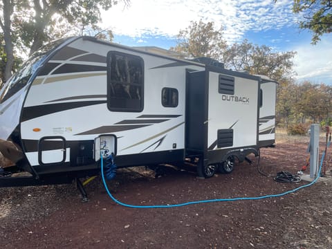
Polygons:
M212 59L176 59L93 37L52 42L0 91L0 151L26 177L69 183L116 165L196 163L201 177L275 143L276 82Z

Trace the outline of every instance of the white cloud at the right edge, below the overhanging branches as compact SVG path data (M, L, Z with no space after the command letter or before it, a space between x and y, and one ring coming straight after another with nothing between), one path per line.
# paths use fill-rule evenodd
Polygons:
M317 45L299 44L294 58L297 80L309 80L313 83L332 84L332 46L331 35L322 37Z

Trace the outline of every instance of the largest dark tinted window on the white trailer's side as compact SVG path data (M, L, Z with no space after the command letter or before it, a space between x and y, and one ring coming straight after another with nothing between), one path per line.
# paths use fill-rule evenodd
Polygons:
M111 51L107 55L107 106L110 111L142 111L143 60Z

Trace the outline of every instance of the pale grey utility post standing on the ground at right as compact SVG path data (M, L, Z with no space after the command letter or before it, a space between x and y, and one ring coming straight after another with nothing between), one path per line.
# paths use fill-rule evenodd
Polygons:
M311 124L310 127L310 178L315 178L318 172L318 158L320 152L320 125Z

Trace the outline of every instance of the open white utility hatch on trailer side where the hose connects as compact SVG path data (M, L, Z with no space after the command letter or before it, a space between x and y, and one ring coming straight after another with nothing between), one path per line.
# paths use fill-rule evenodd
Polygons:
M112 153L116 155L116 136L101 135L95 138L94 150L96 162L100 160L100 155L102 155L102 158L107 158Z

